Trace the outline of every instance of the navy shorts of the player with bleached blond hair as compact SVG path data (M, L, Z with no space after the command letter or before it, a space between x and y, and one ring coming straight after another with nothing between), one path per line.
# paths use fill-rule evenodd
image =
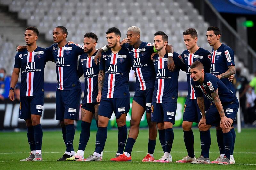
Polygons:
M154 88L146 90L136 90L133 96L133 100L140 104L146 111L151 112L151 102L153 97Z

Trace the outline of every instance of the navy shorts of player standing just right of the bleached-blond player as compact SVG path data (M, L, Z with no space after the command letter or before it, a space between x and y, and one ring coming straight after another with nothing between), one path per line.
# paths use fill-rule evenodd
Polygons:
M152 122L171 122L175 124L177 103L176 102L165 102L156 103L152 102L151 107L151 121Z

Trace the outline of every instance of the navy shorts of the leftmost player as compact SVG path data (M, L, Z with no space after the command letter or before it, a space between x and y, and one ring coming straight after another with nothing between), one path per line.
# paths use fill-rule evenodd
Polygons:
M44 95L20 96L20 119L31 119L31 114L42 116Z

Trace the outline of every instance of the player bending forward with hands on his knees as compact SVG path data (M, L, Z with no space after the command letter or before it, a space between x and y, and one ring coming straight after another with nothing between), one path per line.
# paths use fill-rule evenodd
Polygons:
M230 164L230 152L233 145L233 136L230 131L238 111L239 103L235 94L215 75L204 73L203 64L195 61L190 66L191 84L195 89L197 104L202 112L202 119L198 127L201 138L203 157L193 161L195 164L210 164L209 150L211 145L210 127L219 126L224 135L225 155L218 164ZM203 94L213 104L205 113Z

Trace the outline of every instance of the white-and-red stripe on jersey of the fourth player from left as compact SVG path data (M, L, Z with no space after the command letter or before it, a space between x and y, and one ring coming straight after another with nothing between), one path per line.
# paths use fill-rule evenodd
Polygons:
M114 60L115 58L115 60ZM113 65L113 69L116 70L117 68L117 59L118 59L118 53L117 54L111 54L111 60L110 60L110 66ZM115 87L115 78L116 74L108 74L108 94L107 98L113 98L114 96L114 87Z

